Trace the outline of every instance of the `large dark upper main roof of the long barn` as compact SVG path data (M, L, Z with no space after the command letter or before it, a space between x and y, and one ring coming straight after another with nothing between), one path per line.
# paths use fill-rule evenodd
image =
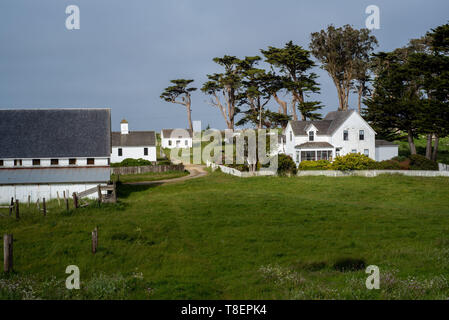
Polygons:
M110 156L110 109L0 110L0 158Z

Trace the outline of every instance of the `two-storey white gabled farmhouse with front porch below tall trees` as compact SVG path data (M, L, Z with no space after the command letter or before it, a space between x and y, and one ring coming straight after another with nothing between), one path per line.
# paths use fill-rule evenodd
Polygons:
M348 153L376 159L376 132L354 110L334 111L323 120L289 121L285 153L296 164L303 160L330 160Z

